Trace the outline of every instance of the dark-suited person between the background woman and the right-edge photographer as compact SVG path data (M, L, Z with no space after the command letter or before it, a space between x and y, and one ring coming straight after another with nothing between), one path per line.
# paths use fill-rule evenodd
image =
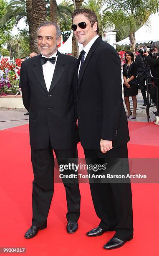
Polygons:
M146 89L145 82L146 82L147 77L150 75L150 66L148 66L148 64L147 64L146 56L144 55L143 49L144 50L146 49L145 46L143 46L143 45L139 46L139 49L138 49L139 55L136 56L135 62L137 63L139 86L140 86L140 90L141 90L142 97L144 100L143 106L146 106L147 105L147 97L146 97L146 92L145 92L145 89ZM152 102L154 103L154 106L156 106L153 91L154 91L153 88L151 88L150 96L151 96Z

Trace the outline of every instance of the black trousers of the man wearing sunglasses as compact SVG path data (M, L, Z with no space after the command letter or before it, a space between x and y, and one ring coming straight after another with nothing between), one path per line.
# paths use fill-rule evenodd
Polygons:
M113 148L106 154L100 150L84 149L86 163L98 158L98 164L103 158L128 158L127 144L120 148ZM94 160L93 160L94 161ZM127 165L129 173L129 164ZM104 230L115 230L115 237L123 241L133 238L133 212L130 183L90 183L93 205L98 218L99 226Z

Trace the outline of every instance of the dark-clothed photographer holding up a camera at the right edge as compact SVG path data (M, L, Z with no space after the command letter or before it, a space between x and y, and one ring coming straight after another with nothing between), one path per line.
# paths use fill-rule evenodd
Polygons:
M146 53L144 53L144 55L146 56L147 64L151 67L150 74L152 77L152 82L154 82L154 84L158 89L158 97L159 97L159 79L153 79L153 77L159 78L159 41L154 42L152 46L154 48L152 58L147 51ZM155 95L157 94L155 93ZM158 102L157 108L159 109L159 102Z

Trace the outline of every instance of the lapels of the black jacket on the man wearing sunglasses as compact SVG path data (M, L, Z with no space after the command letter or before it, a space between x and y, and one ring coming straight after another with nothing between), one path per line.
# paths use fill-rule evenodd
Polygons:
M93 52L96 50L96 47L97 47L98 44L101 42L101 40L102 40L102 39L101 39L100 37L98 37L98 38L96 39L96 41L93 43L93 45L91 46L91 49L88 51L88 54L87 54L87 56L86 56L86 59L84 60L83 66L82 66L82 68L81 68L81 70L80 70L80 76L78 77L78 87L79 87L79 85L80 85L80 83L81 83L81 80L82 80L83 74L84 74L84 72L85 72L85 69L86 69L86 67L87 67L87 65L88 65L88 62L89 62L89 60L91 59L91 56L92 56ZM80 61L81 61L81 54L80 54L80 56L79 56L79 63L80 63ZM79 67L79 64L78 64L78 67ZM78 87L77 87L77 89L78 89Z

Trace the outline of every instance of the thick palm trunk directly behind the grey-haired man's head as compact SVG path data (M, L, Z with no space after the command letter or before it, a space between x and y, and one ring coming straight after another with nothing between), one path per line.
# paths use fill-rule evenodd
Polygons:
M37 54L38 51L38 42L37 42L37 29L41 23L46 21L47 12L46 12L46 3L45 0L32 0L33 8L33 51Z

